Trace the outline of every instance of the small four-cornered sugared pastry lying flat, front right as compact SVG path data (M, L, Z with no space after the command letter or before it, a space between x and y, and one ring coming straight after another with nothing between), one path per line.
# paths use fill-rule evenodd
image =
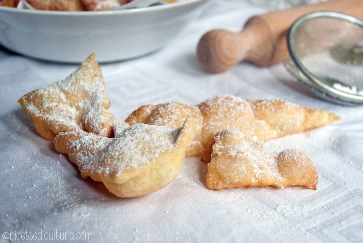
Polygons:
M206 177L208 189L298 185L316 190L318 173L304 152L266 150L259 141L245 140L236 129L222 130L214 139Z

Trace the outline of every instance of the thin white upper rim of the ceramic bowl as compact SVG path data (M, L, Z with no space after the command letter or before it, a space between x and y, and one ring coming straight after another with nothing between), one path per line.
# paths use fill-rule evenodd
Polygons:
M5 6L0 6L0 11L25 13L31 15L49 15L49 16L106 16L106 15L131 14L131 13L140 13L140 12L142 13L154 12L158 10L171 9L203 1L207 0L183 0L179 2L160 4L151 7L103 10L103 11L53 11L53 10L37 10L37 9L18 9L14 7L5 7Z

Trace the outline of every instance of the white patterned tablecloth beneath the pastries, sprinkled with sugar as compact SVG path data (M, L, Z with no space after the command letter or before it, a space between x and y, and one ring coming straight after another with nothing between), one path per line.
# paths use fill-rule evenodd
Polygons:
M139 198L113 196L101 183L83 180L67 156L37 134L17 103L25 93L65 78L77 65L0 49L0 242L19 239L21 233L34 242L39 241L34 233L43 242L77 237L99 243L363 242L363 108L317 99L282 64L258 68L240 63L211 75L196 59L196 45L205 32L239 30L262 11L212 0L164 49L102 65L110 110L124 120L141 105L174 100L199 104L217 94L327 109L341 120L265 143L276 151L305 151L319 172L317 190L208 190L207 164L186 158L166 188Z

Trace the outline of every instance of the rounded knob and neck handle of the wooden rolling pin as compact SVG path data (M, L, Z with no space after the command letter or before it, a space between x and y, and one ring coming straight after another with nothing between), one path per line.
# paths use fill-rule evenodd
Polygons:
M244 60L266 66L271 60L275 43L264 20L254 17L240 32L225 29L207 32L199 41L197 56L209 73L225 72Z

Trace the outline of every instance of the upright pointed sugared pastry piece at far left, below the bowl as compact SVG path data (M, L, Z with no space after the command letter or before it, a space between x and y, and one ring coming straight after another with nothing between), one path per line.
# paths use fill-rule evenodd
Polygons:
M66 79L31 91L18 102L48 139L81 129L102 136L112 132L114 117L107 110L110 100L94 54Z

